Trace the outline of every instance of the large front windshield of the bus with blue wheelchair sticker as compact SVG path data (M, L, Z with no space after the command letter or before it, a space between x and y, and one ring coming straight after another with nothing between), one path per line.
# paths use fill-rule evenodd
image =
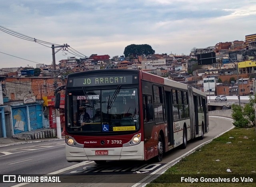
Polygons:
M67 131L108 133L139 129L138 89L68 91Z

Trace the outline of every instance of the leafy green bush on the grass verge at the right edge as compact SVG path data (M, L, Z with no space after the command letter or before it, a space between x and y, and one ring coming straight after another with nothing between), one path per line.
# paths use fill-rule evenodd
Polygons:
M234 119L234 126L239 128L247 128L255 126L255 104L256 95L249 96L249 103L245 104L244 108L238 104L232 104L232 118Z

